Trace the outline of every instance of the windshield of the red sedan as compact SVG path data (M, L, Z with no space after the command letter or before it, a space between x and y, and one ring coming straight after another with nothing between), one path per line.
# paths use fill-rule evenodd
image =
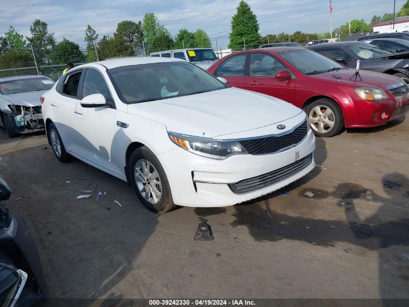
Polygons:
M306 75L344 69L344 66L310 50L291 50L279 52L278 54Z

